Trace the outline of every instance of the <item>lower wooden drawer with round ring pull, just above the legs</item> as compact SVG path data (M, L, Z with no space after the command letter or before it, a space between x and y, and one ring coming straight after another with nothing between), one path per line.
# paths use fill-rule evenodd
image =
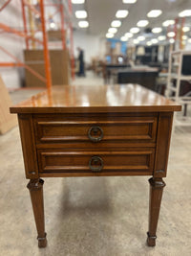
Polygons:
M39 173L152 175L155 149L123 151L38 150Z

